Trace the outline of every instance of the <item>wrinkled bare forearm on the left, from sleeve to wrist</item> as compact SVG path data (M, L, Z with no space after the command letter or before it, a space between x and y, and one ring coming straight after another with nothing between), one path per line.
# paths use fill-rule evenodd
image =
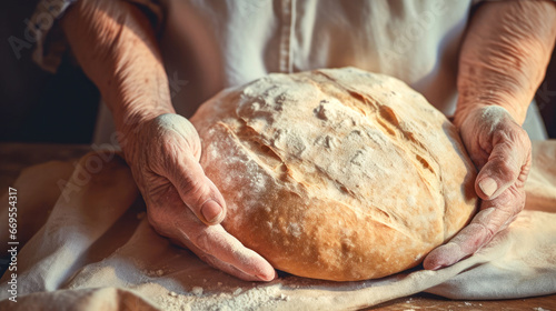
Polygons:
M113 0L81 0L61 24L120 132L128 136L143 121L175 112L153 30L136 7Z

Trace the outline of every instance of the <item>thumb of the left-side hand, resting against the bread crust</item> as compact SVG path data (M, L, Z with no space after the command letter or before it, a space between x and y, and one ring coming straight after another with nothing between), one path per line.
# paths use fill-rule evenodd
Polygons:
M186 205L206 224L218 224L226 217L226 202L218 188L207 178L192 154L177 157L166 178L173 184Z

